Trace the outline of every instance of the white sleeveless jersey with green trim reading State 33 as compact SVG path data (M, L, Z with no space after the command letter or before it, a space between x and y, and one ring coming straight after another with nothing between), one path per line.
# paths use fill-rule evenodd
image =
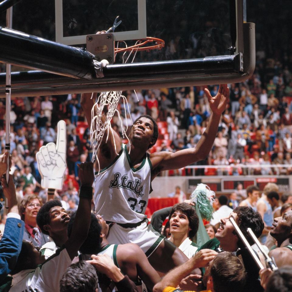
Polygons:
M97 214L106 221L138 223L146 218L145 210L151 189L152 165L146 153L135 169L127 146L99 174L95 172L94 203Z

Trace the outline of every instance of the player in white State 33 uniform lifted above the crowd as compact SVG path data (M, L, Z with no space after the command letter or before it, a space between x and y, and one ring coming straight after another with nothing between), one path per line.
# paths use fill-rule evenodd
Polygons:
M169 240L164 240L148 225L144 215L151 192L151 181L163 170L179 169L206 158L217 134L222 112L229 97L227 85L220 85L216 96L205 89L212 115L196 148L172 152L155 152L149 155L158 138L158 127L151 116L141 116L134 121L129 139L122 144L116 132L104 134L97 158L100 163L95 173L94 203L96 213L113 222L108 235L112 244L136 243L147 255L151 265L160 272L186 262L187 257ZM92 120L94 100L91 93L82 94L81 105L88 123ZM90 124L90 123L89 123ZM118 154L116 154L116 149Z

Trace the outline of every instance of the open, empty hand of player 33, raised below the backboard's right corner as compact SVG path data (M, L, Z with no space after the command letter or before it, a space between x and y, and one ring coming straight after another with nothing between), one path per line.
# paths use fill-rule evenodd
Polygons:
M227 84L220 84L218 92L214 97L211 96L210 91L207 88L205 88L205 93L207 94L212 112L221 115L229 100L229 88Z

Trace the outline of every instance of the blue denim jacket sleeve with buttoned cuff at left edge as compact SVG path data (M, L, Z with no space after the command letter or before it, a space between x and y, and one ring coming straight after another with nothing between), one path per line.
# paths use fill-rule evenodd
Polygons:
M24 222L7 218L0 242L0 283L14 269L23 239Z

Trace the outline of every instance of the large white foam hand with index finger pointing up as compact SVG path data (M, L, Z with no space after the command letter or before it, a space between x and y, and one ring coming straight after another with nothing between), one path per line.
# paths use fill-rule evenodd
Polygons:
M57 143L48 143L36 153L41 185L48 189L62 189L66 164L66 123L58 122Z

